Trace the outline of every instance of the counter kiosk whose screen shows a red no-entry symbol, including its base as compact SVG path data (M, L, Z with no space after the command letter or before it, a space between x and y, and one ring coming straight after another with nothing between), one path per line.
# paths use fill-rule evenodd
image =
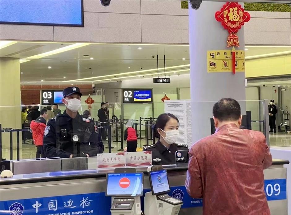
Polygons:
M106 196L111 196L112 215L141 215L143 173L107 173Z

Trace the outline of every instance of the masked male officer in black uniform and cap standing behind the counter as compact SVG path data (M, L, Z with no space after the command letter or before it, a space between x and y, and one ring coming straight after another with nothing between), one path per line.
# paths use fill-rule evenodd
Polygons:
M92 119L78 113L82 93L78 87L63 90L63 114L50 119L44 131L46 157L93 157L103 153L104 145Z

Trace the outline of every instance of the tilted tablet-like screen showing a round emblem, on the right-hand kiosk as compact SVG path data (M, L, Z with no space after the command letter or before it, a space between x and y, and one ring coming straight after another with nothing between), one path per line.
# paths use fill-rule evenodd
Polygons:
M153 194L167 193L170 191L167 170L150 172L150 178Z

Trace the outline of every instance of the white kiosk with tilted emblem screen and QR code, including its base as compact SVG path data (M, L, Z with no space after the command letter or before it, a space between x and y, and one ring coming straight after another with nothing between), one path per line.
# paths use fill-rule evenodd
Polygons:
M145 193L145 215L178 215L183 201L172 198L167 170L149 171L151 192Z

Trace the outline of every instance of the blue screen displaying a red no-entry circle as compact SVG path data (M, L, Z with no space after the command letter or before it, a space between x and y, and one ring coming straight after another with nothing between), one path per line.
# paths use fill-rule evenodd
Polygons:
M143 173L108 173L106 196L142 196Z

